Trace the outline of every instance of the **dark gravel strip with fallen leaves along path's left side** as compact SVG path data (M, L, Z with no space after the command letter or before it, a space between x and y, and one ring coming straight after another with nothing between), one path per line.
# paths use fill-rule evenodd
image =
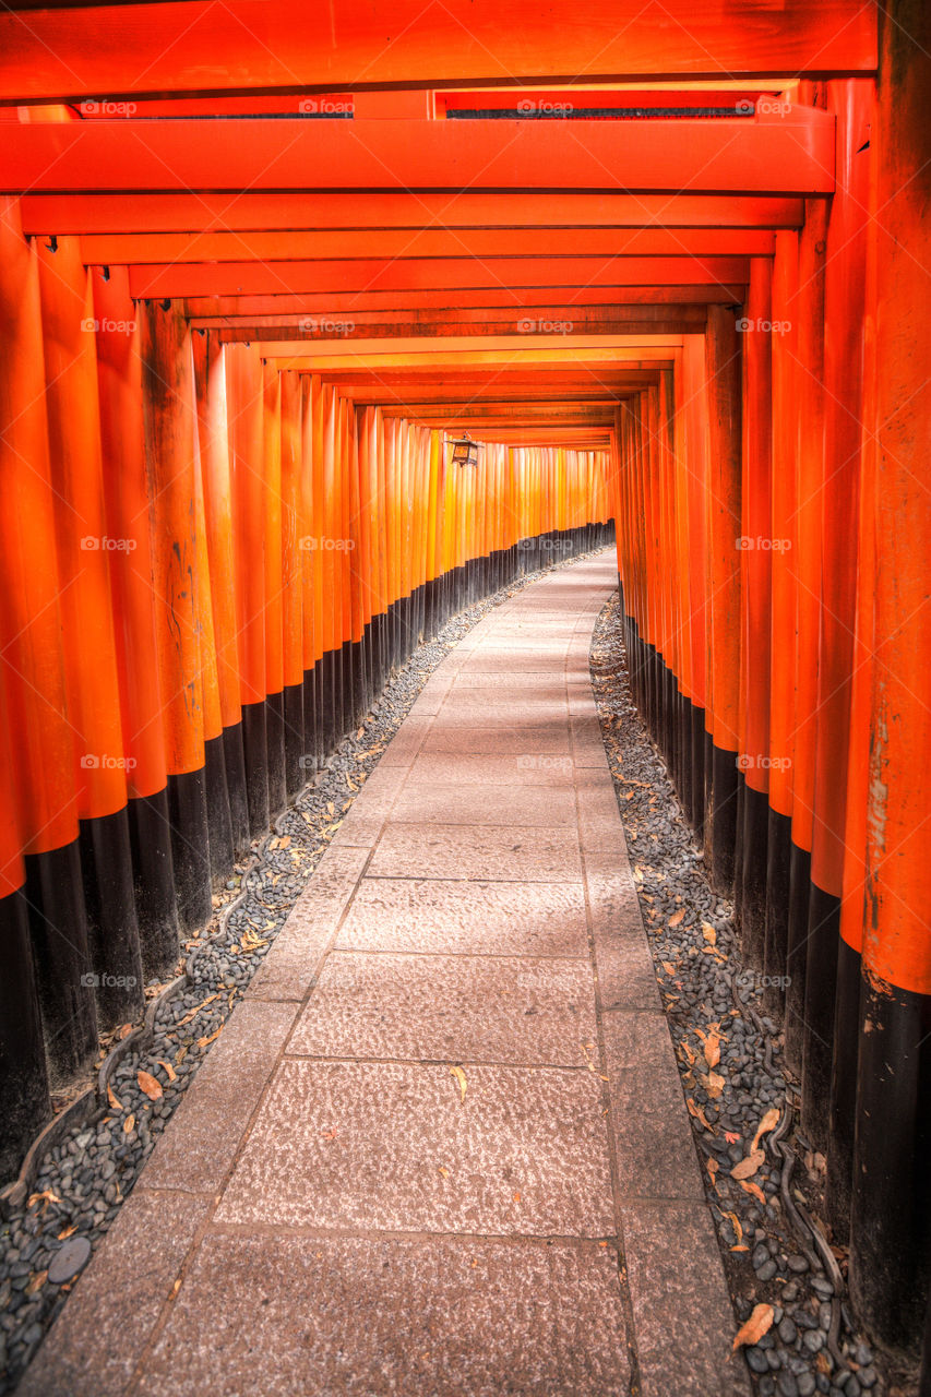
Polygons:
M421 689L489 610L601 549L528 573L459 612L396 671L362 726L344 739L214 898L211 922L183 950L179 977L145 988L143 1024L102 1041L96 1085L36 1137L3 1190L0 1394L10 1393L129 1196L186 1087L222 1032L355 795ZM138 1081L147 1073L148 1094ZM152 1099L154 1098L154 1099Z

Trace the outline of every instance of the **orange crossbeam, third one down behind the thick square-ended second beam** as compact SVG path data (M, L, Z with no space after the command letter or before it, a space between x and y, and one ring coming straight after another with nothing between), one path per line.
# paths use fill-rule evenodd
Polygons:
M498 286L626 288L675 285L746 285L746 257L498 257L408 258L404 261L326 263L178 263L130 267L130 295L136 299L176 296L288 295L342 292L352 309L355 293L373 291L439 291L450 285L484 291ZM626 299L618 295L618 300Z

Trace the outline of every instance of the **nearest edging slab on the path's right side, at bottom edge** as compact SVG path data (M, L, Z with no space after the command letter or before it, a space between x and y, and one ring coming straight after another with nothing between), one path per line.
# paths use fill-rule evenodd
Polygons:
M749 1397L707 1207L622 1208L643 1397Z

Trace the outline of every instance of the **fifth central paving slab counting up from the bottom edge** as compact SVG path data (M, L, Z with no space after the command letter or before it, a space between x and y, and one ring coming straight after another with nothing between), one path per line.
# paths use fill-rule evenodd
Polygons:
M575 830L393 821L368 876L570 883L582 880L582 858Z

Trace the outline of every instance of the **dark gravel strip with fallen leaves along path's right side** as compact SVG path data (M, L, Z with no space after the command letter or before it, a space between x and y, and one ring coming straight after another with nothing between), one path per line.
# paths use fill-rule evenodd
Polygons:
M762 1312L767 1331L742 1345L755 1391L892 1397L882 1355L846 1299L846 1252L832 1249L816 1222L825 1161L795 1125L798 1084L783 1065L780 1028L763 1013L762 977L741 964L734 909L709 886L703 854L632 700L616 594L596 624L590 662L738 1323L756 1306L772 1306L772 1315ZM770 1125L756 1140L767 1112Z

